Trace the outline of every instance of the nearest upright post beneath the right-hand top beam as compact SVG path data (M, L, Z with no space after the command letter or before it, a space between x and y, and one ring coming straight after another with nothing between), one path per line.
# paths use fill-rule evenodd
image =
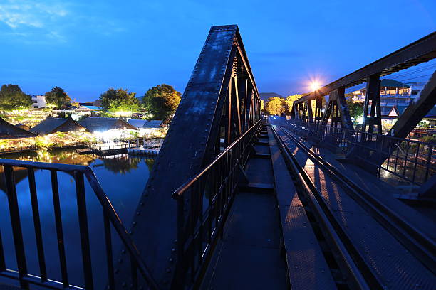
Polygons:
M380 109L380 73L370 75L366 81L362 131L366 132L366 127L368 126L368 133L372 134L374 125L377 125L377 133L382 134Z

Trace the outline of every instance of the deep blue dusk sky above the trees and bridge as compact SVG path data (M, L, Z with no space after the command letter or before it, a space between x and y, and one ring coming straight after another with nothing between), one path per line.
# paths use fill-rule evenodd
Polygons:
M210 26L238 24L259 92L308 91L435 31L435 0L0 0L0 85L80 102L183 92Z

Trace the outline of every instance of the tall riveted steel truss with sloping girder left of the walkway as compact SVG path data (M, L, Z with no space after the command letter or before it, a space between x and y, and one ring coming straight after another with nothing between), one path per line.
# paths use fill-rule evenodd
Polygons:
M212 26L130 227L162 289L177 288L172 285L177 259L177 203L172 192L259 118L259 92L238 27ZM123 267L117 280L129 284Z

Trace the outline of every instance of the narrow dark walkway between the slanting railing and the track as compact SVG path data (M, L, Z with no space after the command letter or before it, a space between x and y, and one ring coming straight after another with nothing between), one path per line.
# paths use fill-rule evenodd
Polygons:
M288 289L266 130L254 150L202 289Z

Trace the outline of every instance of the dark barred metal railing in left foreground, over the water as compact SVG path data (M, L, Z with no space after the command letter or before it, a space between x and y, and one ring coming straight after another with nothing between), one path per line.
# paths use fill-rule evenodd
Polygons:
M29 286L38 285L48 289L95 289L95 279L93 279L93 268L91 263L90 253L90 234L88 230L88 216L86 210L85 196L85 180L88 180L90 187L93 189L95 197L98 199L103 208L103 225L106 267L108 270L108 287L115 289L115 270L113 264L113 241L111 234L111 225L118 234L123 246L127 249L130 257L131 274L133 283L137 284L138 272L147 281L151 289L157 289L157 284L152 278L150 271L147 269L145 262L140 257L140 254L133 240L128 235L123 222L121 222L118 214L115 212L113 205L110 203L108 196L105 195L103 188L100 186L98 179L95 177L92 169L88 166L42 163L30 161L18 161L10 159L0 159L0 165L4 168L4 181L6 184L7 203L9 206L9 215L11 220L11 228L14 242L14 255L18 269L8 269L5 262L4 247L1 244L0 233L0 276L6 276L10 279L19 280L22 289L29 289ZM33 227L35 231L36 250L38 257L38 268L40 276L28 272L28 264L26 262L26 254L24 247L23 231L21 229L19 200L17 198L16 183L14 180L14 168L26 168L28 171L28 188L31 199L31 209L33 215ZM40 211L38 208L38 193L36 187L35 171L43 170L50 172L51 192L53 198L53 213L55 218L58 257L61 269L61 281L55 281L48 275L46 269L46 255L43 247L45 235L41 229L45 228L41 225ZM65 241L63 237L63 219L61 213L60 190L58 186L58 173L68 173L73 176L76 189L76 203L78 213L78 230L81 240L81 252L77 253L82 257L83 263L83 279L84 287L71 285L68 280L68 267L66 258ZM23 194L23 193L21 193ZM9 253L11 254L11 253ZM100 267L100 265L99 265Z

